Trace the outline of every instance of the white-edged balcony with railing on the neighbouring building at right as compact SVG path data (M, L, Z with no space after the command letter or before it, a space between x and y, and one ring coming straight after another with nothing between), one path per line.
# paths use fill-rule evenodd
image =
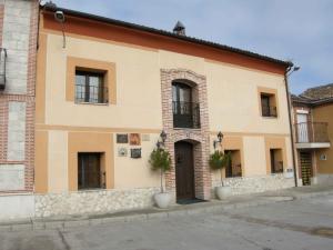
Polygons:
M330 148L327 122L301 122L295 124L296 148Z

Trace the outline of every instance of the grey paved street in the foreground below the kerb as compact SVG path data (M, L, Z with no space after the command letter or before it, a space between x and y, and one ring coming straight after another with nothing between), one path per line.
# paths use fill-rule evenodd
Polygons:
M333 196L214 214L0 232L1 250L333 249Z

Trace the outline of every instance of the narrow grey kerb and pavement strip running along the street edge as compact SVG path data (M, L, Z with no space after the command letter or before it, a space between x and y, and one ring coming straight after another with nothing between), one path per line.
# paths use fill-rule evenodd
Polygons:
M333 194L333 191L322 191L322 192L312 192L312 193L291 193L287 194L276 194L275 197L285 197L291 199L269 199L274 196L258 196L256 201L244 201L236 203L211 203L205 207L198 208L184 208L179 210L169 210L169 211L157 211L151 213L137 213L128 216L110 216L104 218L84 218L84 219L69 219L69 220L53 220L53 221L42 221L42 220L27 220L18 223L7 223L0 224L0 232L17 232L17 231L38 231L38 230L63 230L71 229L77 227L91 227L99 224L109 224L115 222L132 222L132 221L149 221L154 219L167 219L167 218L176 218L184 216L198 216L205 213L221 213L229 210L250 208L258 206L265 206L280 202L289 202L293 200L311 199L314 197L323 197Z

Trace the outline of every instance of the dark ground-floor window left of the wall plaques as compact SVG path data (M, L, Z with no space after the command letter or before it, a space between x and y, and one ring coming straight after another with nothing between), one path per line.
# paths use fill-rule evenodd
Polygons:
M101 153L80 152L78 154L78 188L103 188L101 174Z

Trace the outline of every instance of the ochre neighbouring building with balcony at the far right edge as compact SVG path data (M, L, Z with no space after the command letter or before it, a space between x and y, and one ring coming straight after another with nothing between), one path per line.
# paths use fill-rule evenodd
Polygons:
M299 177L303 184L333 181L333 84L292 97Z

